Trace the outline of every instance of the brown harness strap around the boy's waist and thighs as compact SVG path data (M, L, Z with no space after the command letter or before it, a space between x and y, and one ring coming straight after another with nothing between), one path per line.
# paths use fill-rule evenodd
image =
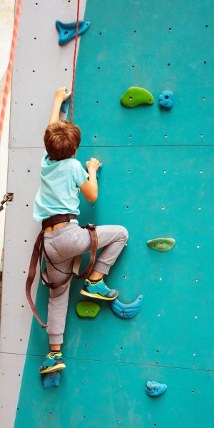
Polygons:
M49 226L54 227L54 225L57 225L58 223L63 223L63 222L68 222L69 220L71 220L71 218L76 218L76 215L74 214L58 214L58 215L54 215L53 217L47 218L46 220L44 220L42 222L42 230L39 233L38 237L36 238L36 243L34 244L34 250L33 253L31 255L31 262L30 262L30 266L29 266L29 275L27 277L26 280L26 297L27 300L29 301L29 304L31 305L31 309L34 313L34 317L36 317L36 320L39 321L39 324L41 324L41 327L47 327L46 324L44 324L44 322L41 320L41 318L39 317L37 311L36 311L36 306L31 298L31 286L34 282L34 277L36 275L36 266L39 260L39 265L40 265L40 275L41 275L41 279L44 282L44 284L47 287L50 287L52 289L56 288L57 286L59 287L60 285L54 284L54 283L49 283L46 281L46 279L44 278L44 275L42 275L41 272L41 261L42 261L42 254L44 252L44 254L46 255L47 260L49 260L49 262L51 263L51 265L54 267L54 269L59 270L49 259L49 256L46 253L46 250L44 248L44 230L46 228L48 228ZM87 228L88 232L90 233L91 236L91 253L90 253L90 260L88 263L88 266L86 267L86 269L79 275L76 274L76 272L73 272L73 265L72 265L72 269L71 272L62 272L61 270L59 270L59 272L61 273L66 273L67 275L74 275L76 278L78 279L82 279L82 278L86 278L92 268L93 265L95 263L96 260L96 250L97 250L97 235L96 235L96 226L95 225L86 225L83 226L83 228Z

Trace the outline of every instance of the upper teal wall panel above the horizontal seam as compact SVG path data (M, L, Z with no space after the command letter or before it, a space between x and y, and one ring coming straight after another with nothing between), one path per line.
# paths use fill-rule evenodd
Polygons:
M213 143L213 9L212 1L88 3L96 21L81 41L74 106L83 145ZM129 86L151 91L153 106L121 108ZM171 111L158 108L165 89L175 93Z

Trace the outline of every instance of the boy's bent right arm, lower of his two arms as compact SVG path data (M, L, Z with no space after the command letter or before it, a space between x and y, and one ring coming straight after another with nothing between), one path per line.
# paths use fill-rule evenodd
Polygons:
M90 161L86 162L89 180L86 180L85 183L81 185L80 190L88 202L95 202L95 200L98 198L96 171L98 170L99 166L100 163L95 158L91 158Z

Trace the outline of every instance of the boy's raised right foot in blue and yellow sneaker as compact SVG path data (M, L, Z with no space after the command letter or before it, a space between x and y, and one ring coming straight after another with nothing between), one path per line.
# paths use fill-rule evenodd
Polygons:
M90 280L85 280L81 294L93 297L95 299L114 300L118 297L118 291L108 288L102 280L91 283Z

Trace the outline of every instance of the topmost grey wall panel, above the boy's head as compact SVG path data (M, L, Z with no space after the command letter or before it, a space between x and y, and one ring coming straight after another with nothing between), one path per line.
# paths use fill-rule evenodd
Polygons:
M86 0L81 1L80 19L85 6ZM23 1L12 81L11 147L41 147L51 93L58 86L71 88L74 42L58 46L56 19L76 21L76 1Z

